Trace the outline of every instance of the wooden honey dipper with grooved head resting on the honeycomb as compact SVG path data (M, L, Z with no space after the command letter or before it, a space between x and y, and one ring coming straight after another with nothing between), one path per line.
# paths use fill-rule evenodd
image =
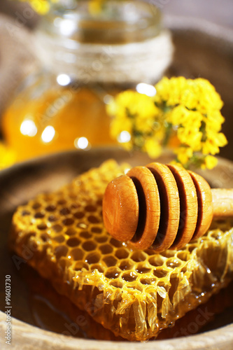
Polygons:
M213 216L233 216L233 189L211 189L178 165L134 167L104 194L106 230L139 249L183 248L206 233Z

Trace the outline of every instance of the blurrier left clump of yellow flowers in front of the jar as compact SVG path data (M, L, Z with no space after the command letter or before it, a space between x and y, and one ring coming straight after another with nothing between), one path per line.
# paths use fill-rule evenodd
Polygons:
M127 150L141 149L151 158L160 155L165 128L162 113L153 99L131 90L121 92L108 104L107 111L115 116L111 136Z

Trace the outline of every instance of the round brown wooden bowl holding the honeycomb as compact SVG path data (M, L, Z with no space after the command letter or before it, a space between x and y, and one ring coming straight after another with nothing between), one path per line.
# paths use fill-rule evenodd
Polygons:
M27 202L36 194L44 191L56 190L64 183L68 183L81 172L98 167L108 158L115 158L119 162L126 161L132 166L146 165L150 160L146 155L137 154L130 157L128 153L119 149L93 149L91 151L71 151L50 155L15 165L0 173L0 334L6 332L6 304L5 279L10 275L11 280L11 349L232 349L233 346L233 317L232 309L225 311L218 317L217 322L211 323L211 330L198 335L180 337L177 339L155 340L147 343L109 342L92 339L80 339L43 330L36 327L31 314L30 300L27 286L15 268L12 256L8 252L7 239L10 222L15 208ZM171 155L164 153L158 160L169 162ZM220 159L219 165L213 171L202 172L211 185L230 188L233 187L233 162ZM20 269L20 268L19 268ZM222 320L222 321L220 321ZM50 320L47 320L48 323ZM52 322L52 321L51 321ZM52 330L52 325L50 330ZM0 339L1 349L6 339Z

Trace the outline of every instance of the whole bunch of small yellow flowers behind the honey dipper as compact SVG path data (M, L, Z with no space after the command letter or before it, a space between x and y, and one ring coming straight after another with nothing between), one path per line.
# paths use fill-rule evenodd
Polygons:
M155 89L153 97L128 90L113 99L107 106L112 136L127 150L140 149L151 158L168 146L184 167L215 167L213 155L227 139L220 132L223 102L213 85L203 78L164 77Z

